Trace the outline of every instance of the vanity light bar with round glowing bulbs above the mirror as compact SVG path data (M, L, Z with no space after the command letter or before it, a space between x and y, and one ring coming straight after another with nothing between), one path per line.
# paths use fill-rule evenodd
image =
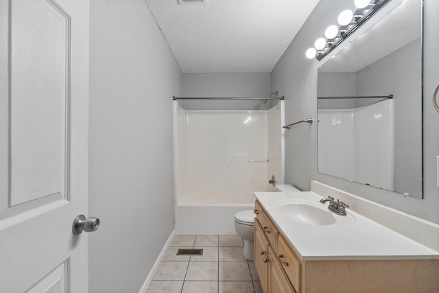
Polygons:
M324 32L325 38L318 38L314 47L307 49L305 55L309 59L316 57L317 60L322 60L388 2L390 0L354 0L357 10L353 12L346 9L340 12L337 18L340 26L329 25Z

